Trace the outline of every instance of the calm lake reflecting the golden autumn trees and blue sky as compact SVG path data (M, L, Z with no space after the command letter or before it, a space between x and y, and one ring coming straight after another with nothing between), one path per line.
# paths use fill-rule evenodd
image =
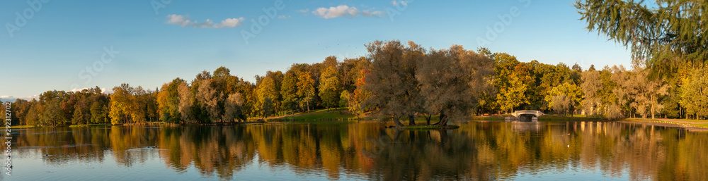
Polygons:
M2 180L708 180L708 133L612 123L13 130Z

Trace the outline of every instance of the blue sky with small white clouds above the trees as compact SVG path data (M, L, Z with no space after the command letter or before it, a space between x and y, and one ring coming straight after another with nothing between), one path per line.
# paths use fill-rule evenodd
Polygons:
M364 44L390 39L583 68L631 63L624 46L584 29L573 1L36 2L0 2L0 98L124 82L155 89L220 65L253 81L293 63L366 56Z

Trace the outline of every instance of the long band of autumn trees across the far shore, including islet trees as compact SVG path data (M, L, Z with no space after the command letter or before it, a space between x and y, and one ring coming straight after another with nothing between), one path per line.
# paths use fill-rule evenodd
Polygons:
M452 45L425 49L414 42L376 41L369 55L320 63L296 63L249 82L225 67L202 71L191 81L176 78L154 91L122 84L105 94L98 87L47 91L39 99L14 101L14 125L224 123L266 119L319 108L348 108L356 117L400 120L435 116L440 125L472 115L541 110L624 117L708 116L708 68L683 63L662 78L635 61L583 70L577 63L520 62L507 53Z

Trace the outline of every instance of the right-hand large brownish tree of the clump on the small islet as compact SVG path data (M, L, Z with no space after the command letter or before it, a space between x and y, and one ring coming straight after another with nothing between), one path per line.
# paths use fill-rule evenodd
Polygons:
M481 93L495 91L493 60L460 45L430 50L417 67L426 111L439 113L439 125L470 116Z

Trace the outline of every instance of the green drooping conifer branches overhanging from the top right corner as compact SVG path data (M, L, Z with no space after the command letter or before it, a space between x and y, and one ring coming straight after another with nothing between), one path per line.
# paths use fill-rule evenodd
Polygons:
M708 1L656 0L649 5L578 0L574 5L588 30L631 48L632 57L651 68L651 77L670 75L682 63L705 63L708 58Z

